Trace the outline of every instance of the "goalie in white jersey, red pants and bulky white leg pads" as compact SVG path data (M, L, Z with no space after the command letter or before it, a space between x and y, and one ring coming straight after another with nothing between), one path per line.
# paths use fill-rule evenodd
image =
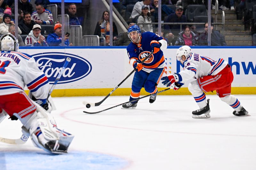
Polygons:
M46 100L50 88L44 72L34 58L18 52L19 43L12 34L0 38L0 48L0 122L6 113L18 118L23 134L31 136L35 146L51 153L66 153L74 136L58 129L48 113L52 107ZM25 85L36 102L24 92Z

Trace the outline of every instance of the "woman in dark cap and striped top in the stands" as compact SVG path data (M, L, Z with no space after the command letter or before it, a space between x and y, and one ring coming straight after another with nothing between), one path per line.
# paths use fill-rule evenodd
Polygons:
M140 23L151 23L151 18L150 18L150 13L149 13L149 9L148 6L143 5L141 8L141 14L138 18L138 25ZM153 26L152 24L140 24L140 31L141 33L144 33L146 31L152 32L153 33Z

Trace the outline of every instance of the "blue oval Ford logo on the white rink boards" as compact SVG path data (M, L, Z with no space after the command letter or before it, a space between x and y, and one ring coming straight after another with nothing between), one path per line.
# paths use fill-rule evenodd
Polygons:
M50 84L54 83L67 57L71 58L71 61L60 77L58 84L80 80L92 71L91 63L78 55L47 52L34 54L32 56L35 58L38 68L42 70L48 78Z

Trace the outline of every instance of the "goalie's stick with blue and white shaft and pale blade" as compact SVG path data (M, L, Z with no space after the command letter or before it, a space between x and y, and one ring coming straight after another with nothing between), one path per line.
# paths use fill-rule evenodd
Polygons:
M57 78L55 79L51 89L48 92L47 98L46 100L50 97L53 89L55 88L55 86L57 85L58 81L60 80L60 77L63 73L63 71L66 69L66 67L68 66L68 63L71 61L71 58L67 57L62 69L60 70ZM7 116L7 115L6 115ZM0 142L6 143L6 144L25 144L28 141L29 136L22 134L21 137L19 139L7 139L7 138L3 138L0 137Z

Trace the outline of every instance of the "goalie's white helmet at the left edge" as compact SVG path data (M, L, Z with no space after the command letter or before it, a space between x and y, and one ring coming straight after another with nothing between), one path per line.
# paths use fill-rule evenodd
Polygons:
M0 38L0 49L1 51L18 51L19 42L11 33L6 33Z

